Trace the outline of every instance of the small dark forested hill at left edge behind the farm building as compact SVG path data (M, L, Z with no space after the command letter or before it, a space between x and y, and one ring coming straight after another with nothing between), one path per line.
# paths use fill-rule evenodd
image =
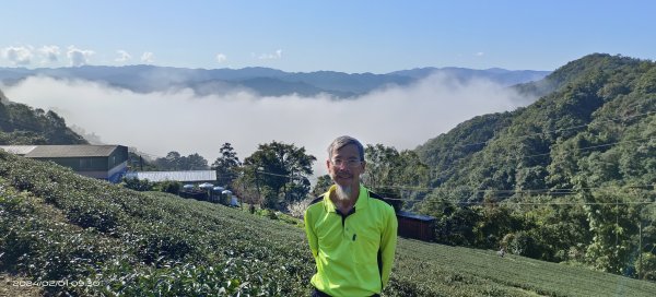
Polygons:
M85 144L55 111L10 103L0 91L0 145Z

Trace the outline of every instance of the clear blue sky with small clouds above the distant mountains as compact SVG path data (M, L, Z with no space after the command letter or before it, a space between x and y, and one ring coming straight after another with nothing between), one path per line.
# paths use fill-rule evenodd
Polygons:
M656 58L656 1L36 1L0 4L0 67L387 73Z

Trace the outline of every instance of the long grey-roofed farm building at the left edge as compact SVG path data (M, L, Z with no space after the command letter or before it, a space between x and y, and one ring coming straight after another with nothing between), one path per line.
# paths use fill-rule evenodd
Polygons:
M110 182L120 181L128 166L128 147L122 145L9 145L0 148L28 158L51 161L80 175Z

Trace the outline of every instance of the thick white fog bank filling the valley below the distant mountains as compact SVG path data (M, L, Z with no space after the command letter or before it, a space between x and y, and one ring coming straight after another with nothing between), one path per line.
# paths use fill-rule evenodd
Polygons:
M517 102L528 102L488 81L462 83L443 75L348 100L258 97L245 92L198 97L190 90L137 94L48 78L30 78L4 91L12 100L55 108L69 126L82 127L107 143L157 156L171 151L199 153L212 163L224 142L233 144L241 159L258 144L294 143L317 157L318 175L326 173L326 147L336 136L414 148L475 116L512 110Z

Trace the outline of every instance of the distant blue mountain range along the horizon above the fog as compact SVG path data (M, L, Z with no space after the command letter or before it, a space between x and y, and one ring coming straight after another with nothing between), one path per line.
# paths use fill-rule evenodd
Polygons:
M191 88L198 95L248 91L260 96L328 94L349 98L389 85L408 85L434 74L459 81L489 80L504 86L539 81L551 71L505 70L492 68L418 68L386 74L343 73L335 71L284 72L270 68L186 69L155 66L84 66L73 68L0 68L0 82L13 85L30 76L85 80L137 93Z

